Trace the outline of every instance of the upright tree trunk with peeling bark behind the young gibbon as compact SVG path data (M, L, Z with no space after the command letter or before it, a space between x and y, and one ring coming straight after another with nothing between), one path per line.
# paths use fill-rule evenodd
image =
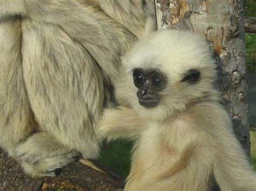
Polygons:
M242 0L155 0L159 29L190 30L213 45L235 134L250 156Z

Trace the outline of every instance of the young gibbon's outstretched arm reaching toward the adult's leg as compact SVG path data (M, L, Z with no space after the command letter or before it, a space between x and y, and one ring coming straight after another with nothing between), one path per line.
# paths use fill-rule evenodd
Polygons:
M136 139L145 128L143 120L132 109L117 107L105 109L99 122L99 131L107 140L119 138Z

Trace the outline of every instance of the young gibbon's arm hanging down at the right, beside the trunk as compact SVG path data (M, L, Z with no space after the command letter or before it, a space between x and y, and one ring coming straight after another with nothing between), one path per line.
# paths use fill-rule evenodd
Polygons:
M197 111L215 142L213 174L221 190L256 190L255 172L233 132L228 113L220 105L210 103L201 104Z

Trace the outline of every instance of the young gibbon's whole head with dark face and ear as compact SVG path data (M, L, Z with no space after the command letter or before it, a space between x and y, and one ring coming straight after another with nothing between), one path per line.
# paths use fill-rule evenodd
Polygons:
M214 95L214 60L207 43L186 31L158 31L123 57L116 99L144 118L163 120Z

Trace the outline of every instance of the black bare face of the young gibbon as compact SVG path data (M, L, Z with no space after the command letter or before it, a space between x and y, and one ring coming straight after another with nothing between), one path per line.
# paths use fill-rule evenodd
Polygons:
M133 83L139 89L139 104L145 108L153 108L160 102L159 92L165 88L166 77L156 69L136 68L133 70Z

